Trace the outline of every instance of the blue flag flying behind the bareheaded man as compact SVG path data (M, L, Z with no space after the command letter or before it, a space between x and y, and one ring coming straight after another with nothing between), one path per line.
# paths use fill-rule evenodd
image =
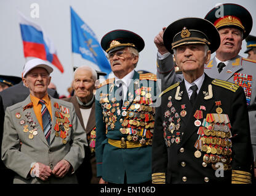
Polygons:
M76 12L70 7L71 11L71 34L72 34L72 52L78 53L82 58L94 62L102 72L107 75L111 72L110 63L105 56L100 43L94 32Z

